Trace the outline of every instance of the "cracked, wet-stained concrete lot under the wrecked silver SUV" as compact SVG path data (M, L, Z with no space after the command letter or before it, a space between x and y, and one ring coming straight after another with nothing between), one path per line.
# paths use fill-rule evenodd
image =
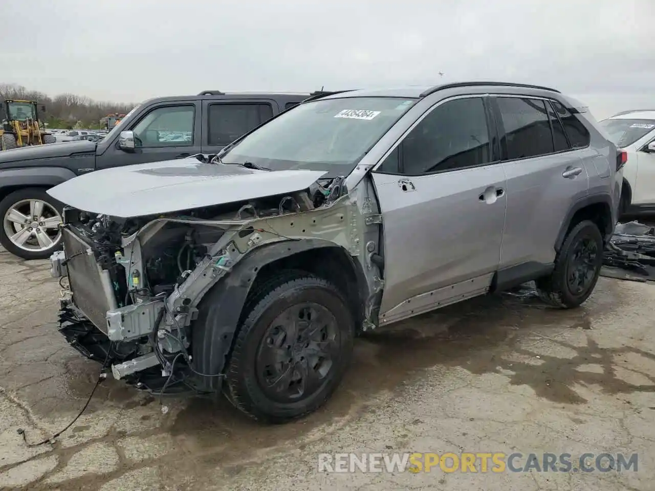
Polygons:
M485 297L356 342L331 401L284 426L105 380L56 330L46 261L0 252L0 489L652 490L655 287L601 278L580 309ZM319 473L323 452L638 454L618 473ZM575 467L575 465L574 465Z

